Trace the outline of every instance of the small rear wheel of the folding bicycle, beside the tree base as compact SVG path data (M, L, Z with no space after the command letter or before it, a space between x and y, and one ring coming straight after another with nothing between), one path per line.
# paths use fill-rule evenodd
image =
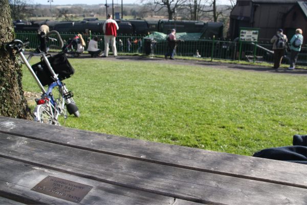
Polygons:
M49 125L59 125L59 122L54 120L52 114L50 114L49 107L45 105L39 105L34 109L34 121Z

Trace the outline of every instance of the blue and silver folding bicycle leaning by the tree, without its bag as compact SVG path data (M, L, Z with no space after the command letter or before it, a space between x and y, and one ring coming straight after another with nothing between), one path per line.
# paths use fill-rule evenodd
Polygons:
M51 31L50 33L57 33L58 37L60 38L58 32ZM76 117L79 117L80 116L79 109L72 98L73 96L72 92L65 87L65 84L63 84L59 79L58 74L54 72L46 54L44 52L31 53L27 59L25 54L23 53L24 52L23 47L26 44L24 44L18 39L15 39L12 42L7 43L5 45L5 49L7 51L9 51L9 49L16 51L16 54L18 54L19 57L21 58L21 63L24 63L27 66L28 70L34 77L38 87L42 92L41 98L35 99L37 106L34 109L34 116L35 116L34 120L52 125L60 125L58 122L58 116L62 115L64 119L67 119L68 117L67 111L69 114L74 114ZM44 65L47 66L47 69L50 72L50 77L51 77L50 81L52 81L52 83L48 86L47 91L43 87L43 84L40 82L38 78L39 76L36 75L32 66L29 64L29 60L31 59L32 56L40 56ZM39 66L40 64L38 65L38 69L42 69L42 67ZM44 68L46 69L46 67ZM58 97L54 97L52 93L55 87L58 88L59 92Z

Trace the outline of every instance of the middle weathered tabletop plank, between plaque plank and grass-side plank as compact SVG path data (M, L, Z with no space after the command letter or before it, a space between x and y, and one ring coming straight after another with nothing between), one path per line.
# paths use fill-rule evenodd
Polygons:
M0 156L44 169L202 203L303 204L307 190L0 134Z

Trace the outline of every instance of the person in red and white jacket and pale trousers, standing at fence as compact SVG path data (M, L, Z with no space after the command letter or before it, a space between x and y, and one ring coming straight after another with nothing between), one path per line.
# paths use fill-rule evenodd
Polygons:
M104 33L104 55L102 57L107 57L109 43L111 42L112 51L114 56L117 56L115 37L117 35L118 25L115 20L112 19L111 14L107 14L107 19L103 24Z

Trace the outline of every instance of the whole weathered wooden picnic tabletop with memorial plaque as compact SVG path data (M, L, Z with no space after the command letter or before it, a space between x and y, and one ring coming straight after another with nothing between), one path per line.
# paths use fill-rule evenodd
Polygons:
M307 166L0 117L0 204L307 204Z

